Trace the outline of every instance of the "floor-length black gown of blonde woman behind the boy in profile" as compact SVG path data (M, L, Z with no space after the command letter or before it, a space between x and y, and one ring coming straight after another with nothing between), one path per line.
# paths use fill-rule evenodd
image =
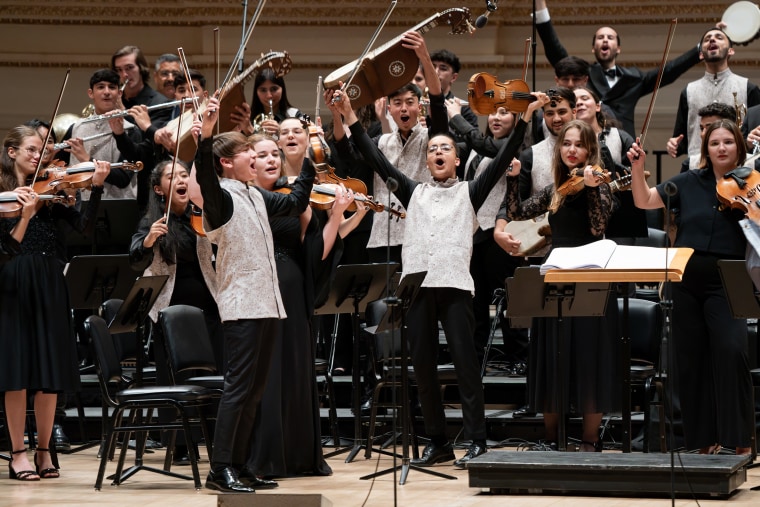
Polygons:
M316 219L312 219L310 228ZM322 457L319 397L312 338L313 289L306 259L310 248L301 243L298 217L270 219L280 284L287 319L279 332L264 397L257 411L247 467L265 477L330 475ZM319 229L316 227L316 229ZM321 254L321 230L314 250ZM316 234L316 232L314 233ZM307 233L306 243L314 234ZM321 256L320 256L321 257Z

